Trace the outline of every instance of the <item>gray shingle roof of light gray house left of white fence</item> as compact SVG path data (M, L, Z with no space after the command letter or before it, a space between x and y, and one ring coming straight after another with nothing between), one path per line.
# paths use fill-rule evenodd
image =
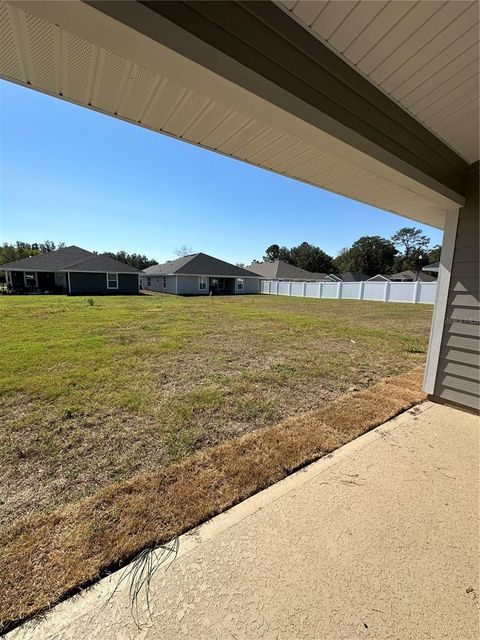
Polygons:
M258 274L252 271L242 269L242 267L237 267L206 253L194 253L163 264L155 264L153 267L144 269L143 273L151 276L193 275L258 278Z

